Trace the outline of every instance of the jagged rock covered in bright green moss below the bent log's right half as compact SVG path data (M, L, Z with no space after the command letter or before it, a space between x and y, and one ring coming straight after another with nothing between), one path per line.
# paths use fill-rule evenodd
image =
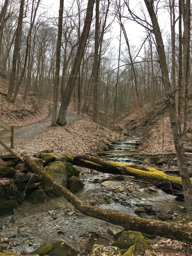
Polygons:
M132 253L141 254L145 250L153 250L143 234L137 231L123 231L119 239L112 244L120 249L129 249L124 255L129 256Z

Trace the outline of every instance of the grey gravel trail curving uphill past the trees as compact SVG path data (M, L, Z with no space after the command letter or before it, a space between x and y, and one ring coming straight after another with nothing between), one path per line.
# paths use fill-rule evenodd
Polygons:
M57 108L57 115L59 113L60 104ZM30 124L26 126L16 127L15 129L15 141L16 144L23 144L23 140L27 139L33 139L35 136L39 136L40 134L44 133L47 129L49 129L51 125L51 118L52 115L50 115L42 120L39 123ZM78 116L77 114L73 113L72 111L67 111L67 122L75 122L82 119L82 117ZM5 137L8 134L8 132L0 132L0 137Z

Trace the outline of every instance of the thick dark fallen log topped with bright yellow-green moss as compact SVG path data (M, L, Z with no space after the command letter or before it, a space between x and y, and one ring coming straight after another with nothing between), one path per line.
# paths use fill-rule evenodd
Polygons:
M167 194L184 198L180 177L167 175L151 167L105 161L101 158L88 155L71 155L67 153L63 153L62 155L66 156L67 161L71 161L76 166L86 167L103 173L134 176L138 180L145 180L153 184Z

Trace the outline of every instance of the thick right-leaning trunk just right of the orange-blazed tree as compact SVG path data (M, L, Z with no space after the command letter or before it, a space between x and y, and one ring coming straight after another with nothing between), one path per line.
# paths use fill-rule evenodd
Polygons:
M73 88L75 86L75 82L77 79L77 74L79 72L80 63L83 58L87 38L89 35L89 30L91 27L91 21L93 16L93 6L94 6L95 0L89 0L87 4L87 12L85 17L85 23L83 27L82 34L80 36L79 45L77 47L76 56L73 62L73 67L69 76L69 80L67 83L67 87L65 88L64 96L61 102L61 107L59 110L59 115L57 118L57 124L58 125L64 125L66 123L66 114L67 114L67 108L70 102L70 98L73 92Z

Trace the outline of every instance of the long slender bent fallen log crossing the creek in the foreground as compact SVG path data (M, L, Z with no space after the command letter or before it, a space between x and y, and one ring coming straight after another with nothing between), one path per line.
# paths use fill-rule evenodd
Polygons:
M175 224L173 222L163 222L151 219L134 217L129 214L100 209L84 203L67 188L56 182L49 174L39 167L29 156L24 156L26 164L33 172L45 179L54 189L56 189L68 202L81 213L101 219L103 221L120 225L128 230L140 231L155 236L166 237L184 243L192 244L192 228L187 225Z

